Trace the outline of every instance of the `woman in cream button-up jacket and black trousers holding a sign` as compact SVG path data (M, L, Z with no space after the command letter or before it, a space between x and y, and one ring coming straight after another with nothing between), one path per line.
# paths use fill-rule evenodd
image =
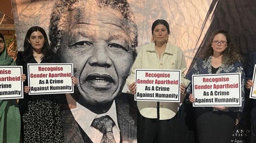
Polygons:
M170 34L166 20L158 19L152 24L150 44L143 45L132 67L126 83L131 93L136 92L135 69L171 69L181 70L180 91L184 92L189 81L185 80L187 68L183 51L168 42ZM182 101L180 101L182 102ZM174 141L174 125L178 112L177 102L137 101L139 109L137 117L138 143L171 143Z

